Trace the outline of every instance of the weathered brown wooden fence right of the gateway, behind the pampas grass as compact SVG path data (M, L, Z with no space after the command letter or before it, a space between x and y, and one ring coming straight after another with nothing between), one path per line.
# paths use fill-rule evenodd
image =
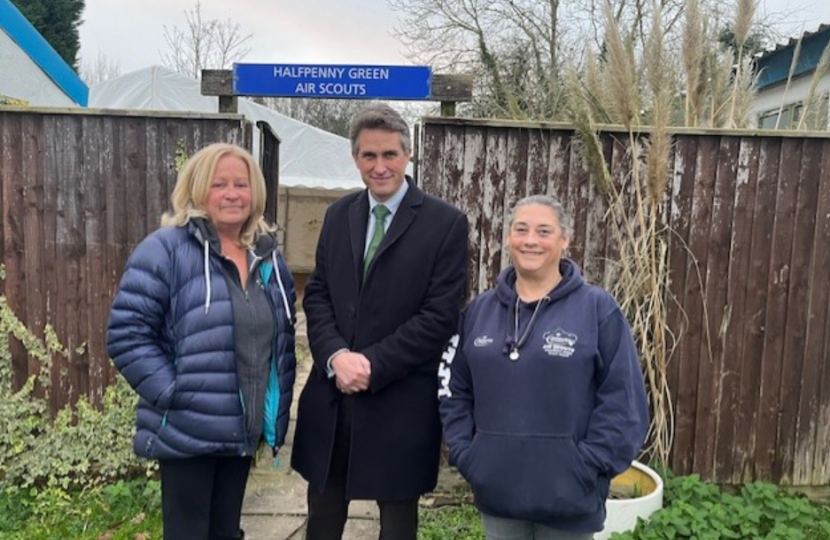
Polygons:
M608 285L607 206L572 129L448 119L423 123L425 189L470 219L472 293L507 264L511 205L557 195L574 216L571 255ZM601 134L612 174L627 133ZM830 139L677 132L665 219L677 337L669 382L672 467L722 483L830 482Z

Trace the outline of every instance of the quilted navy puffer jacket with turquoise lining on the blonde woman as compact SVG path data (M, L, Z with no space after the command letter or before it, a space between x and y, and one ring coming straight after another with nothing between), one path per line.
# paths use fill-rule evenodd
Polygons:
M152 459L246 455L230 292L221 261L193 222L163 227L127 262L109 318L107 351L140 396L136 454ZM274 250L260 262L277 324L278 407L272 444L288 430L294 385L294 285ZM276 272L273 271L276 265ZM268 407L266 406L266 410ZM276 409L276 415L273 414ZM276 416L276 418L274 418ZM266 420L268 421L268 420Z

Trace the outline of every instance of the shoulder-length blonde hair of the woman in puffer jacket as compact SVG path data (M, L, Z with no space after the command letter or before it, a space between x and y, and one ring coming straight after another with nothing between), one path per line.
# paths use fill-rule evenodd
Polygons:
M273 230L265 221L265 177L253 156L244 148L235 144L214 143L193 154L187 160L176 187L170 196L173 209L161 218L161 225L178 227L193 218L209 218L205 202L210 191L210 183L216 173L216 164L225 156L238 157L248 166L248 178L251 184L251 215L242 225L240 242L252 246L256 237Z

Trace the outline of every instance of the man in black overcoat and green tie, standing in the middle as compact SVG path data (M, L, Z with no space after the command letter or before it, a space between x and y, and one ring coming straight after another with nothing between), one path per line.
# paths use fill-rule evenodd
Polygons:
M377 501L381 540L415 540L435 487L437 370L465 292L467 218L405 175L409 127L386 105L352 121L366 189L331 205L303 307L314 366L291 465L308 540L339 540L350 500Z

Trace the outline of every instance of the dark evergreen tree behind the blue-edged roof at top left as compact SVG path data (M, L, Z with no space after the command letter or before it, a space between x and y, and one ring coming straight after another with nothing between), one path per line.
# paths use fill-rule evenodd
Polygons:
M78 71L81 41L78 27L83 22L84 0L12 0L32 26Z

